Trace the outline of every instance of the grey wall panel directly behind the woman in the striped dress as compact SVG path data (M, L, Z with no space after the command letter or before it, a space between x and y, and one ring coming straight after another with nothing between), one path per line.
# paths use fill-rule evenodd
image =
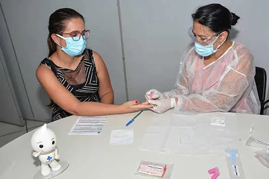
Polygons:
M47 56L48 19L58 8L71 7L85 16L86 27L91 30L88 47L100 53L108 66L115 102L126 100L116 1L1 0L1 3L36 120L51 116L45 106L49 100L36 80L35 70Z

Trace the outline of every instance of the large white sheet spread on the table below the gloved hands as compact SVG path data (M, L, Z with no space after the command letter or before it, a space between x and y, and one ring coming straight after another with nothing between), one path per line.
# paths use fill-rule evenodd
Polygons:
M225 126L212 125L212 117L224 118ZM232 113L160 115L152 119L140 149L217 157L234 141L238 128Z

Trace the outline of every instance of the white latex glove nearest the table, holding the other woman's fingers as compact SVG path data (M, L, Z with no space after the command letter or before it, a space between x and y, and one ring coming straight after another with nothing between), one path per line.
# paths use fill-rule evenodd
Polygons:
M148 100L148 102L154 107L151 109L155 113L162 114L168 109L171 109L176 106L175 98L162 98L160 100Z

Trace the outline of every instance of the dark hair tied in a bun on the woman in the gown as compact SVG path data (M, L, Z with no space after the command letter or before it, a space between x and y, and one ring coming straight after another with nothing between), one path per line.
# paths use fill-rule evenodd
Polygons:
M199 7L192 18L212 32L219 33L229 31L240 17L220 4L210 4Z

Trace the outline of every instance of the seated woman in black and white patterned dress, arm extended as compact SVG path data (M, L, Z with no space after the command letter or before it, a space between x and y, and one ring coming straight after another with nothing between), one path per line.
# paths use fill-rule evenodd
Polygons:
M151 108L129 101L114 105L106 64L86 49L89 30L84 17L70 8L58 9L49 19L49 57L42 60L36 77L51 98L52 121L71 115L99 116Z

